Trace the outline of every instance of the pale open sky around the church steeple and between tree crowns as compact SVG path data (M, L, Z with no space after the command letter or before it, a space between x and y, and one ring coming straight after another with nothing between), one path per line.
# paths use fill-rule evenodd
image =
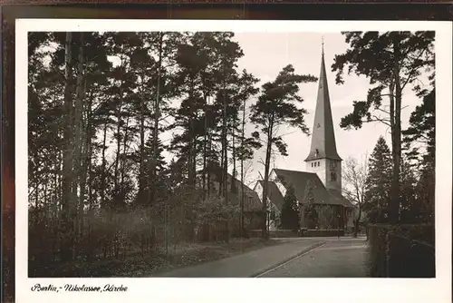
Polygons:
M273 81L287 64L294 65L295 73L311 73L319 77L322 37L337 151L343 161L349 157L360 160L365 154L372 152L380 136L383 136L390 145L390 130L388 126L380 122L364 123L360 130L346 131L340 128L342 117L352 112L352 102L364 100L370 88L367 78L355 74L347 75L346 72L344 84L335 84L335 73L331 69L333 58L335 54L343 54L348 47L342 34L236 33L234 40L242 47L245 54L237 64L238 70L246 69L247 72L253 73L255 77L261 79L259 86L265 82ZM301 84L300 95L304 98L302 106L308 111L305 122L312 130L317 83ZM419 98L410 88L406 89L403 96L403 106L407 107L401 112L403 129L408 126L410 112L419 103ZM249 133L255 131L255 127L248 124L247 131ZM272 168L304 171L304 159L310 150L311 138L302 131L291 127L282 129L281 134L284 134L284 142L288 145L289 155L275 155L271 162ZM251 165L253 171L247 173L246 183L251 184L251 186L259 178L259 172L264 173L264 165L260 163L261 159L265 159L264 148L255 152L255 158Z

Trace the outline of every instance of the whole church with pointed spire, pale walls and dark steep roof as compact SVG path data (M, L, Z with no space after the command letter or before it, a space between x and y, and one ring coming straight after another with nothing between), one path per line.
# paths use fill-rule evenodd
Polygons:
M321 73L314 112L311 148L304 159L305 171L273 169L268 183L269 230L280 226L286 192L294 193L300 212L300 227L306 230L344 230L352 227L355 207L342 196L342 158L337 152L329 89L321 58ZM302 161L302 159L301 159ZM254 191L263 199L264 181Z

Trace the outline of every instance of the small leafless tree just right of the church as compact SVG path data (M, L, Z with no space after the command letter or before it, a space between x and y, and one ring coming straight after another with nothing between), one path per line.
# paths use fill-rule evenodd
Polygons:
M344 162L343 180L345 186L343 195L358 207L358 213L354 216L354 238L357 237L359 222L361 220L361 210L365 202L366 180L368 174L368 155L364 156L363 161L355 158L348 158Z

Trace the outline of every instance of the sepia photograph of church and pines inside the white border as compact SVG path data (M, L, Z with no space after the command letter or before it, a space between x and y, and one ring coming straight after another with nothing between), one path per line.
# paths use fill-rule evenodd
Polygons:
M432 26L27 27L28 284L439 278Z

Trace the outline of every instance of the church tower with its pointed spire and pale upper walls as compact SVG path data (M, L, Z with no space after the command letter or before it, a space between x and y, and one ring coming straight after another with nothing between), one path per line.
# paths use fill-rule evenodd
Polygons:
M306 171L316 172L327 189L342 191L342 158L338 155L333 132L331 101L324 64L324 45L318 98L314 112L312 145L305 163Z

